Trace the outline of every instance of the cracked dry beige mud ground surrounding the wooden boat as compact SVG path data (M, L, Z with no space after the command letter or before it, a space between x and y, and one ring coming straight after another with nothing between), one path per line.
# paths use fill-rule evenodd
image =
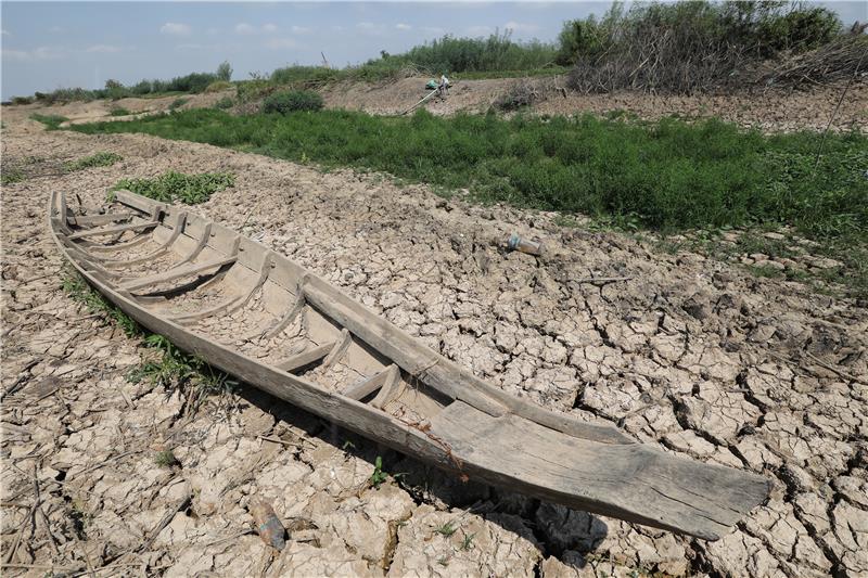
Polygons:
M3 187L2 532L9 575L866 576L868 316L695 254L445 201L352 171L135 134L46 132L4 110L7 159L113 167ZM462 484L251 387L183 413L129 383L136 339L61 290L52 190L228 170L194 210L288 255L516 396L762 473L769 502L717 542ZM73 197L74 198L74 197ZM509 233L545 240L507 253ZM589 275L631 275L602 286ZM171 449L180 465L161 467ZM368 487L376 455L403 473ZM580 466L580 464L577 464ZM247 505L269 501L278 553ZM165 527L158 534L155 528ZM17 548L15 548L17 544ZM14 549L14 556L10 552Z

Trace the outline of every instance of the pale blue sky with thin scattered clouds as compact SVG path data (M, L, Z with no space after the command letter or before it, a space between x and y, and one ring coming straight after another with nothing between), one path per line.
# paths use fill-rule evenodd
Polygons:
M846 25L868 2L822 2ZM610 2L8 2L0 3L2 99L213 72L233 79L288 64L359 64L381 50L511 30L553 40L566 20Z

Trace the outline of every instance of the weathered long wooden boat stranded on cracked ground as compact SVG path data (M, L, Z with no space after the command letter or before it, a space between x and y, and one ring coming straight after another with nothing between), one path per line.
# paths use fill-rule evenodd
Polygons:
M122 191L61 251L127 314L227 373L398 451L570 508L715 540L766 478L682 459L489 385L273 251Z

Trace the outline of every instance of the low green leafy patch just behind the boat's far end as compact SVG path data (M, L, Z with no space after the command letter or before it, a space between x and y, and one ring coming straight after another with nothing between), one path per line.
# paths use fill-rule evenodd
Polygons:
M169 170L153 179L122 179L113 191L127 189L136 194L166 203L181 202L188 205L205 203L213 193L235 184L230 172L201 172L184 175Z

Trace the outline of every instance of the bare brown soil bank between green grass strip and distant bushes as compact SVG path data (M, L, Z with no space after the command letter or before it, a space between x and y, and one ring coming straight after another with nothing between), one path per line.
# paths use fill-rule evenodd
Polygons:
M401 114L430 92L424 88L426 81L427 78L405 78L380 85L343 84L324 90L323 97L327 105L333 108ZM458 80L446 99L433 98L424 107L438 115L485 112L520 85L536 90L538 100L531 111L538 114L629 112L649 120L671 115L716 116L769 131L824 130L831 120L834 130L868 131L868 82L865 81L854 82L848 89L845 84L835 84L809 91L769 89L682 97L631 91L582 94L565 90L563 77Z

